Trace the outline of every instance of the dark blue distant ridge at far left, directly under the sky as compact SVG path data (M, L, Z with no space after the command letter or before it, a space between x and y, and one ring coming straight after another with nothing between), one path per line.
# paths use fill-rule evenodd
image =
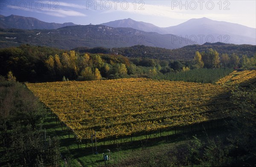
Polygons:
M47 23L34 17L17 15L0 15L0 28L2 29L58 29L65 26L76 26L74 23Z

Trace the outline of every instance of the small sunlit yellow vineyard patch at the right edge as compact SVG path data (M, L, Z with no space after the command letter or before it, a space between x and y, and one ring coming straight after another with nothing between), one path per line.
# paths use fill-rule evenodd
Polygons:
M256 82L256 70L244 70L244 71L233 71L224 78L221 78L218 82L219 85L233 86L236 84L249 84Z

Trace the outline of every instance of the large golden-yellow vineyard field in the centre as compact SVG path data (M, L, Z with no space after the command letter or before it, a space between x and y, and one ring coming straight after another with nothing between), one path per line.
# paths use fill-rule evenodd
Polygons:
M80 139L120 137L227 116L229 88L129 78L27 83Z

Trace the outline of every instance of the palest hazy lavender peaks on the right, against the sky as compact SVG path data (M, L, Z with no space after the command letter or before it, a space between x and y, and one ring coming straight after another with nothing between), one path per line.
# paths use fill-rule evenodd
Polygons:
M135 21L130 18L115 20L102 25L110 27L130 27L145 32L159 34L174 34L188 38L199 44L208 43L234 43L256 45L256 29L235 23L215 21L206 17L190 19L177 26L157 27L151 23Z

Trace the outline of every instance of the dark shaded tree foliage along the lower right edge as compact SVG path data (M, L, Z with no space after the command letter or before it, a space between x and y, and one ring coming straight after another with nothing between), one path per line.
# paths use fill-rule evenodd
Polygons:
M233 146L231 155L236 158L234 164L253 166L256 161L256 87L237 87L231 98L236 105L228 122Z

